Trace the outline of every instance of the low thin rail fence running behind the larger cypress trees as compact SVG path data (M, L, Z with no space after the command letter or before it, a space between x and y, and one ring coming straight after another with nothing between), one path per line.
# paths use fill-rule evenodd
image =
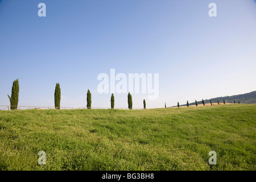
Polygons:
M24 109L112 109L111 107L53 107L53 106L5 106L0 105L0 110L11 110L11 107L15 107L14 110L24 110ZM129 108L114 108L129 110ZM133 108L133 110L143 109L143 108Z

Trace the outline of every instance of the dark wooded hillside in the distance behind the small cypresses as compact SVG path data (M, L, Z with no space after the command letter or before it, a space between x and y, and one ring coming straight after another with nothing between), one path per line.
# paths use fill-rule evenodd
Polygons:
M235 95L235 96L225 96L225 97L216 97L216 98L211 98L213 103L216 103L217 100L222 103L223 99L225 99L226 103L234 103L234 100L236 103L240 101L241 104L256 104L256 91L250 92L250 93L245 93L245 94L240 94L240 95ZM210 103L210 99L204 100L205 104ZM198 104L202 104L202 101L197 101ZM189 103L189 105L196 105L195 102ZM186 106L186 104L180 105L180 106Z

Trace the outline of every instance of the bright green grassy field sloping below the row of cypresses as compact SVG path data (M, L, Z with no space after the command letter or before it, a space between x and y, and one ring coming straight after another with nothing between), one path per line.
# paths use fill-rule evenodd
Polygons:
M255 170L255 123L246 104L0 111L0 169Z

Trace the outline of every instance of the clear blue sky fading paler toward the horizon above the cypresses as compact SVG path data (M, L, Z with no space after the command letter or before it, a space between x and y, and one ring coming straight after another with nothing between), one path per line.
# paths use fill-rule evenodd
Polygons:
M46 17L38 4L46 4ZM217 17L209 17L209 3ZM159 73L158 100L133 94L133 107L164 107L256 90L254 0L0 0L0 105L19 78L19 105L110 107L100 73ZM115 94L127 107L127 94Z

